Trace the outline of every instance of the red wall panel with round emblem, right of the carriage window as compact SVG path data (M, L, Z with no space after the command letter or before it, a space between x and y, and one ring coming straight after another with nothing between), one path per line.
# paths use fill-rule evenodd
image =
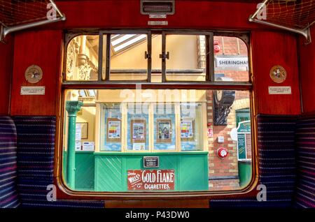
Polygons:
M255 98L261 114L300 114L300 86L297 66L297 39L293 34L272 31L253 31L253 75ZM280 84L272 81L272 66L286 69L286 80ZM291 95L269 95L269 86L290 86Z

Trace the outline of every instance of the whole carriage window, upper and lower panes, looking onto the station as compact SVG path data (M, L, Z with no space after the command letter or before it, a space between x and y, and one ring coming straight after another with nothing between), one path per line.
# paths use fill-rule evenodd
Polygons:
M203 50L198 51L197 43L209 41L207 34L113 31L95 38L102 35L103 62L96 67L102 72L93 82L73 74L63 83L64 184L90 195L93 191L232 193L248 186L254 176L248 66L222 65L230 57L246 61L246 44L239 43L237 55L232 50L238 49L237 38L225 36L225 44L231 39L236 46L228 50L225 45L223 55L219 41L221 51L209 55L215 66L203 63L204 68L198 68L198 53ZM221 37L214 36L215 45ZM169 52L165 64L160 58L163 38ZM179 42L188 45L176 45ZM205 50L209 52L207 46ZM150 62L146 52L151 52ZM211 73L215 84L207 80Z

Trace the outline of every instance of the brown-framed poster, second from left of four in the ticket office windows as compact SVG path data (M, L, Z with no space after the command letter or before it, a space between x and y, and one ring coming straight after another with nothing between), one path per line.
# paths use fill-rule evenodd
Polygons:
M132 143L146 143L146 119L132 119L130 135Z

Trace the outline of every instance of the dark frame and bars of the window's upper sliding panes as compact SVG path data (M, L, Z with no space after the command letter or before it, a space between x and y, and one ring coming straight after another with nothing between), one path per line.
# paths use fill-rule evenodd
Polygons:
M111 71L111 35L112 34L146 34L147 35L147 54L148 57L146 58L148 60L148 66L147 66L147 80L110 80L110 71ZM202 35L206 37L206 49L207 49L207 73L206 73L206 80L200 81L200 82L193 82L193 81L167 81L166 77L166 59L161 58L162 62L162 82L151 82L151 76L152 76L152 36L154 34L161 34L162 35L162 55L166 54L166 36L167 35ZM87 84L87 85L104 85L104 84L123 84L123 83L130 83L130 84L136 84L136 83L148 83L148 84L202 84L206 86L222 86L225 87L227 85L239 85L239 86L251 86L251 72L248 71L248 82L215 82L215 73L214 73L214 36L231 36L231 37L237 37L241 38L241 40L244 41L248 48L248 58L250 55L249 50L249 38L247 32L239 32L236 34L232 34L230 32L218 32L218 31L196 31L196 30L151 30L151 29L134 29L134 30L108 30L108 31L91 31L91 32L83 32L81 34L68 34L66 36L66 42L65 45L67 48L70 41L77 37L82 35L98 35L99 36L99 54L98 54L98 77L97 81L93 80L87 80L87 81L80 81L80 80L66 80L66 59L64 59L64 70L63 70L63 85L76 85L76 84ZM103 54L104 49L104 36L106 36L106 54ZM66 52L64 54L64 57L66 58ZM103 64L103 58L105 59L105 64ZM250 67L250 62L248 61L248 67ZM105 67L105 78L103 78L103 67ZM250 69L249 69L250 70Z

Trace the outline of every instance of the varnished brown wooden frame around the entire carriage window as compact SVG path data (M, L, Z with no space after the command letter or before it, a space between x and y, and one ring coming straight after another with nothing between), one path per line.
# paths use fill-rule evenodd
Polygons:
M114 33L128 33L134 34L137 29L133 30L123 30L123 31L106 31L110 34ZM160 33L162 30L139 30L139 32L143 33L149 31L151 33L155 33L158 31ZM165 31L165 30L163 30ZM202 34L206 32L207 34L211 34L213 40L213 36L233 36L238 37L244 40L246 46L248 48L248 75L249 81L248 82L214 82L214 71L211 71L212 67L209 69L210 76L209 81L205 82L141 82L141 81L109 81L108 79L103 81L102 80L102 65L99 68L99 75L97 81L66 81L65 75L63 75L63 82L62 82L62 91L60 95L60 101L64 101L64 91L66 89L137 89L137 84L141 83L141 89L209 89L209 90L245 90L249 91L250 94L250 110L251 110L251 135L252 135L252 177L251 182L245 188L241 188L239 190L230 190L230 191L172 191L172 192L155 192L152 191L148 192L98 192L98 191L73 191L64 182L64 177L62 176L62 128L63 128L63 119L64 113L64 104L61 103L59 109L59 121L57 121L57 128L59 128L59 133L57 135L58 142L56 142L56 155L55 158L55 184L57 185L57 197L59 199L80 199L80 200L211 200L212 198L218 198L222 196L230 197L230 198L241 198L241 197L248 197L248 196L255 196L255 186L258 184L258 160L256 158L258 154L257 144L258 144L258 126L257 121L255 119L255 115L257 113L257 107L254 103L254 93L253 93L253 74L252 74L252 67L251 67L251 45L249 44L249 34L248 32L235 32L235 31L196 31L190 29L183 29L183 30L167 30L165 33L183 33L187 35L191 34ZM84 34L99 34L101 37L104 31L88 31L88 32L81 32L76 34L70 34L66 37L65 42L65 49L71 38L76 36L84 35ZM99 45L102 45L102 39L99 38ZM209 40L209 52L213 52L213 44ZM64 50L66 53L66 50ZM99 61L102 64L102 51L99 50ZM214 53L208 53L209 62L208 65L210 66L211 63L214 63ZM66 62L66 61L64 61ZM107 66L107 64L106 64ZM65 66L64 66L65 68ZM150 70L149 70L150 71ZM65 72L64 72L65 74ZM106 77L109 77L106 74ZM165 77L165 75L164 75ZM150 78L148 77L148 80Z

